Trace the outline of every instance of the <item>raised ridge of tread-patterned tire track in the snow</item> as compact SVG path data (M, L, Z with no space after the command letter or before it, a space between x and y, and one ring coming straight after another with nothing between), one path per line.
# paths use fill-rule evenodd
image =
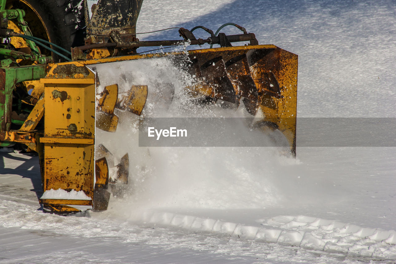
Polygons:
M248 226L211 218L146 212L143 220L160 226L213 231L257 242L272 242L326 252L369 258L396 259L396 231L363 228L309 216L276 216Z

